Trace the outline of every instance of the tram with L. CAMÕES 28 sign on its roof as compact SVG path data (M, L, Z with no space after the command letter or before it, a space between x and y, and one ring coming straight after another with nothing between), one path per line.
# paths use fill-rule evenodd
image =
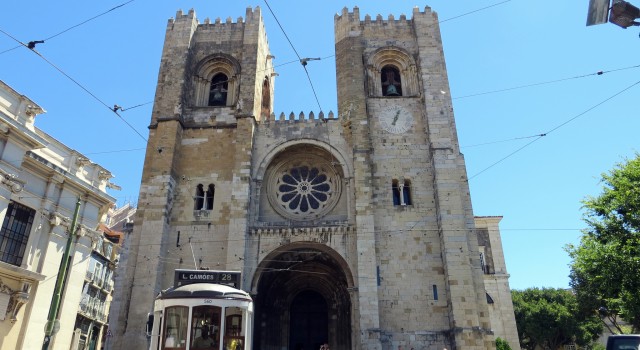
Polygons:
M249 350L253 300L240 272L176 270L147 321L149 350Z

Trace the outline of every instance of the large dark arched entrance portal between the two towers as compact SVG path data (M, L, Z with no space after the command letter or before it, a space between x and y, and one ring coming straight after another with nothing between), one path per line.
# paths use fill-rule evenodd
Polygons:
M339 258L317 244L290 244L258 267L254 349L351 349L351 298Z

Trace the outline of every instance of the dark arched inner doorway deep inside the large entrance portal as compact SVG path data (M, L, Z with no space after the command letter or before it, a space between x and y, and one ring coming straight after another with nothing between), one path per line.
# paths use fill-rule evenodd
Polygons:
M310 290L298 294L291 303L289 350L316 350L328 342L328 314L320 294Z

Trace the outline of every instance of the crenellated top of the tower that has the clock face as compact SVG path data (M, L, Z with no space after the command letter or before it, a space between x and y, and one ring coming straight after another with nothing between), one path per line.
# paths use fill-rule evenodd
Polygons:
M345 37L359 35L364 30L380 31L381 34L384 34L390 31L411 29L415 20L427 23L427 25L435 25L438 23L438 15L429 6L426 6L424 11L414 7L411 19L407 19L405 14L401 14L397 18L395 15L390 14L386 19L380 14L375 17L366 14L364 20L362 20L358 7L354 7L352 11L345 7L342 9L342 13L334 16L336 42Z

